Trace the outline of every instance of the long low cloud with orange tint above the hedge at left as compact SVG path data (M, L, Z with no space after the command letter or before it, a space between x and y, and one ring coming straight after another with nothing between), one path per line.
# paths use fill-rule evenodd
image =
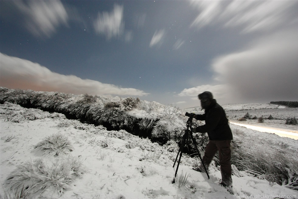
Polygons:
M134 88L122 88L99 81L83 80L73 75L54 73L38 63L2 53L0 53L0 57L2 87L106 96L144 96L148 94Z

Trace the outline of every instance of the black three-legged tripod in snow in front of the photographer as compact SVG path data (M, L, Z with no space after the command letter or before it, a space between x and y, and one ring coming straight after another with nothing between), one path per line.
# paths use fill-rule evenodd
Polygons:
M179 155L179 153L180 153L180 157L179 157L178 164L177 164L177 168L176 168L176 172L175 172L175 177L177 176L177 172L178 172L178 168L179 168L179 164L180 164L180 160L181 160L181 156L182 156L182 152L183 152L183 147L184 147L185 144L187 143L187 141L188 141L188 136L190 135L190 137L191 137L191 139L192 139L192 142L193 142L193 145L195 145L195 147L196 147L196 151L198 152L198 155L199 155L199 157L200 157L200 160L201 160L201 162L202 162L202 164L203 164L203 167L204 167L204 169L205 169L205 172L206 172L206 174L207 174L207 176L208 176L208 179L210 179L209 174L208 174L208 172L207 172L207 169L206 169L206 167L205 167L205 165L204 165L204 162L203 162L203 160L202 160L201 154L200 154L200 152L199 152L199 149L198 149L198 147L197 147L196 140L193 138L192 131L189 130L189 127L190 127L190 129L192 128L192 118L193 118L193 116L194 116L194 114L190 114L190 115L189 115L189 119L188 119L187 122L186 122L186 127L187 127L187 129L185 130L185 133L184 133L184 135L183 135L183 137L182 137L181 146L180 146L180 148L179 148L179 150L178 150L178 154L177 154L177 157L176 157L175 162L174 162L174 165L173 165L173 168L174 168L174 167L175 167L175 164L176 164L176 162L177 162L177 159L178 159L178 155ZM172 183L175 183L175 178L173 179L173 182L172 182Z

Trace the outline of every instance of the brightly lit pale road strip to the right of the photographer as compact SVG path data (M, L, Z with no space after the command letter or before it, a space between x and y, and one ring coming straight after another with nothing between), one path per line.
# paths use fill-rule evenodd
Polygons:
M260 132L268 132L268 133L275 133L276 135L279 135L281 137L289 137L293 138L295 140L298 140L298 130L296 129L287 129L286 127L281 126L257 126L257 125L251 125L251 124L241 124L241 123L234 123L230 122L231 124L235 124L238 126L244 126L248 129L257 130Z

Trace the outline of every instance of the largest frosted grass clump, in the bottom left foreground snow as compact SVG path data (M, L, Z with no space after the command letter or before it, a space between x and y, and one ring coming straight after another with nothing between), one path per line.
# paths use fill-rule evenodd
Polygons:
M84 172L81 161L72 156L37 158L17 165L6 179L6 189L15 193L24 187L28 198L48 188L61 195Z

